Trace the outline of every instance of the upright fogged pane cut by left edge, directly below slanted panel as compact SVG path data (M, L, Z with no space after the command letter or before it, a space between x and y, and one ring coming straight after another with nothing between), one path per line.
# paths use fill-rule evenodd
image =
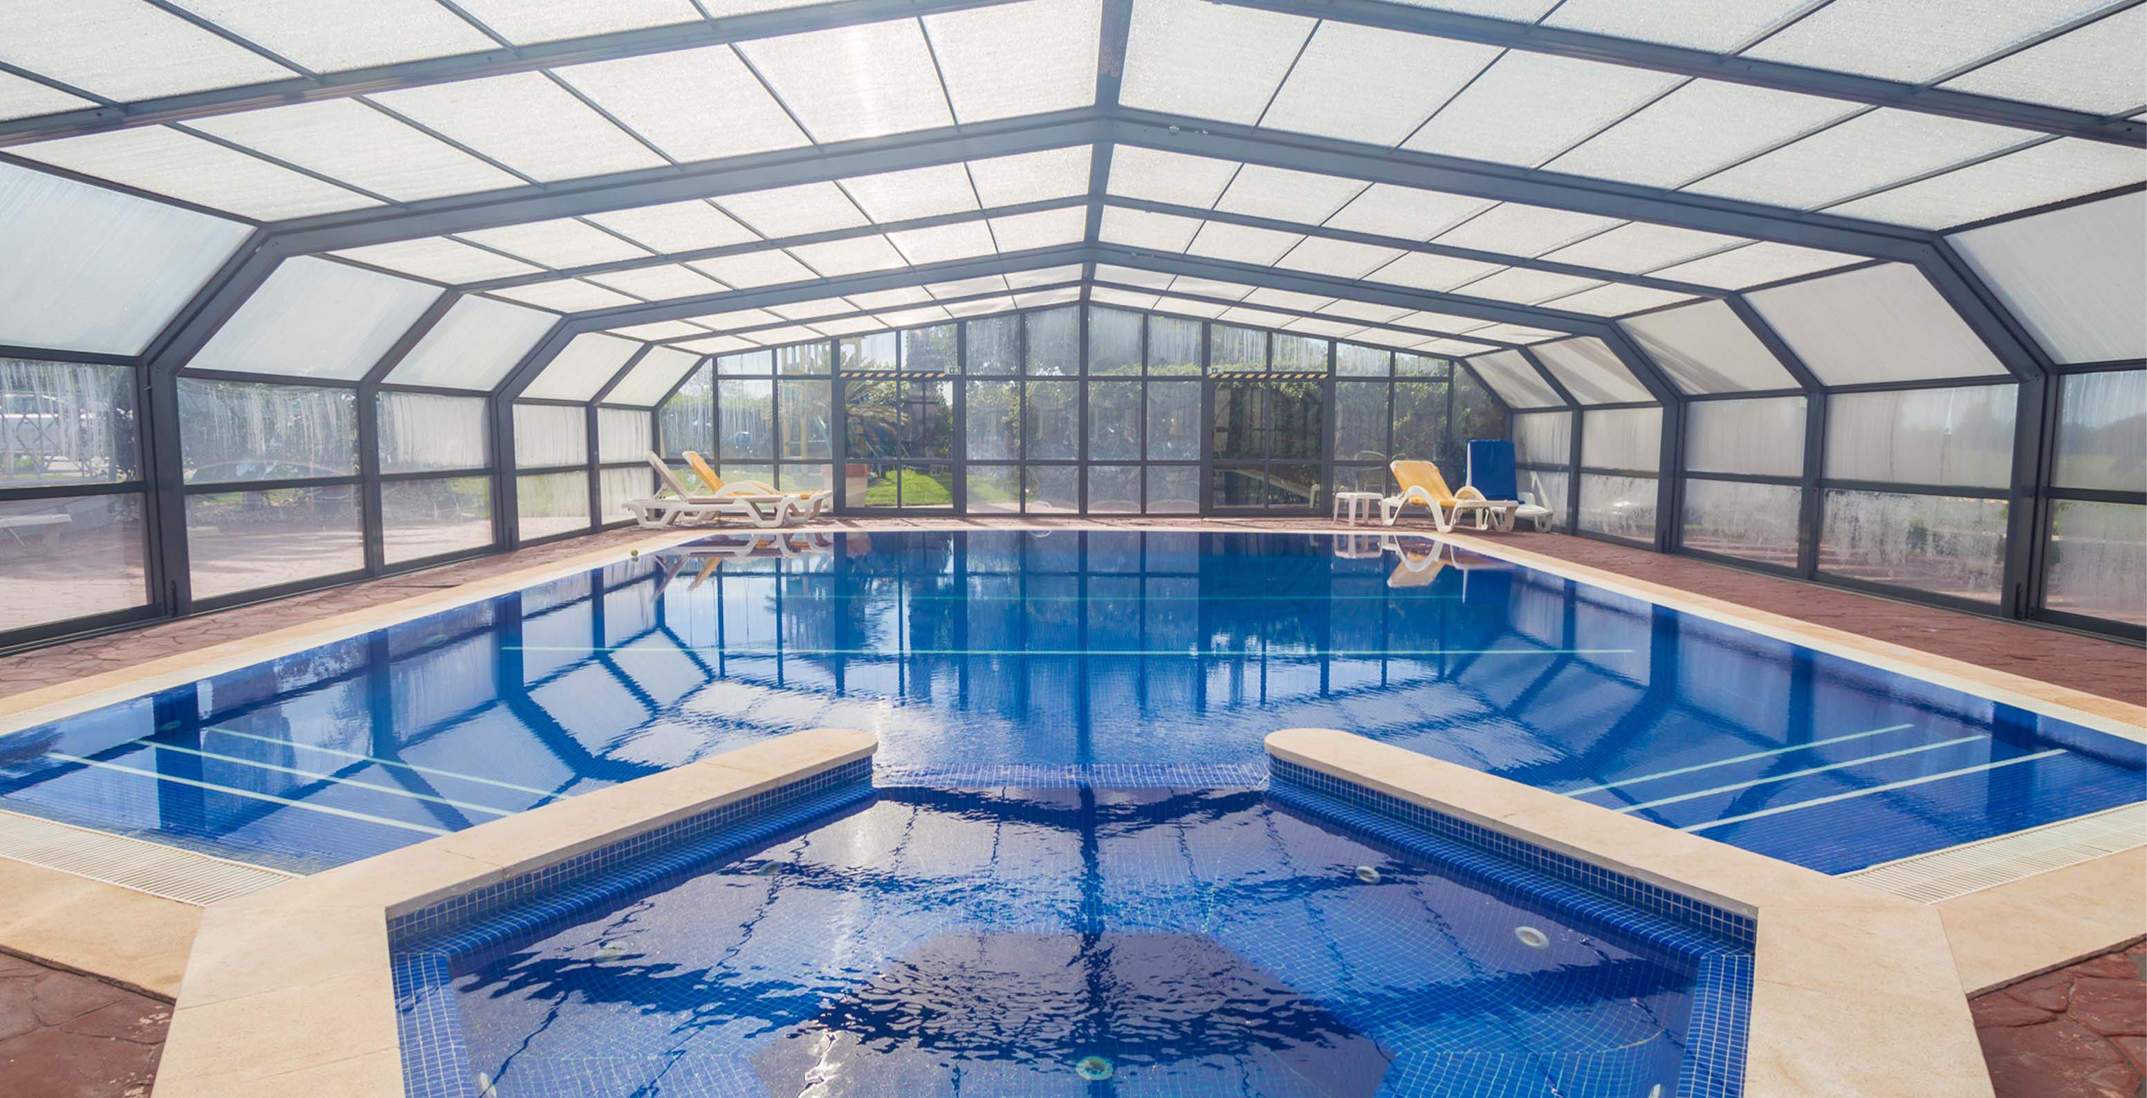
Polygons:
M142 476L133 369L0 358L0 489Z

